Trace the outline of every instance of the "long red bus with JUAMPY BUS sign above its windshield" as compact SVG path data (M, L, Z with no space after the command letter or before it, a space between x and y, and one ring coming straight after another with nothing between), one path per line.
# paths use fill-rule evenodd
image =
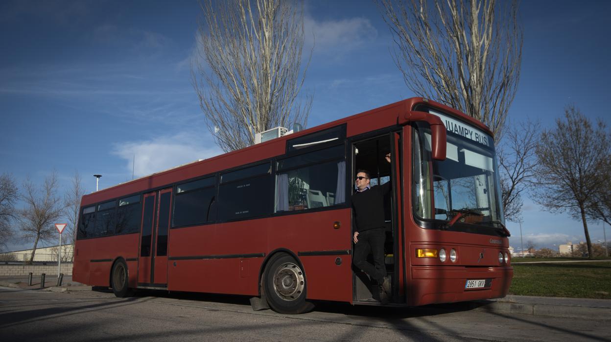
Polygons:
M392 155L391 163L384 156ZM412 98L83 196L73 279L132 289L381 305L351 256L354 176L384 201L387 305L504 297L508 236L492 133Z

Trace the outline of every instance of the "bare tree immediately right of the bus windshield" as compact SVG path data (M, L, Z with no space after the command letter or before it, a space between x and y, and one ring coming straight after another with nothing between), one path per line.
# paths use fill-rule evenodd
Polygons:
M518 222L522 213L522 192L535 182L536 147L541 133L538 122L510 125L497 150L503 212L507 220Z

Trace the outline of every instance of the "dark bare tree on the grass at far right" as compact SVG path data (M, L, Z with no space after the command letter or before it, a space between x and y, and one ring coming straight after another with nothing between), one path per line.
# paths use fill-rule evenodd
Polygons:
M611 137L601 119L593 125L575 106L568 106L565 118L541 135L536 149L536 177L539 187L534 199L552 212L567 211L584 225L588 256L592 243L587 223L588 201L596 195L611 152ZM608 194L607 194L608 196Z

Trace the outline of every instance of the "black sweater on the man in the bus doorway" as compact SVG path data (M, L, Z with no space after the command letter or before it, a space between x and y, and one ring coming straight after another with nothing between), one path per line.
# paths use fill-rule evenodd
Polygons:
M356 223L354 231L362 232L385 225L384 195L388 191L390 191L390 182L362 192L356 191L352 195L352 209Z

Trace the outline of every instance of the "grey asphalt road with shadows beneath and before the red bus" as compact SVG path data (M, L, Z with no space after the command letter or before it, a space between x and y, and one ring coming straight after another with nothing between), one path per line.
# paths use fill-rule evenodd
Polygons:
M246 297L0 288L2 341L611 341L609 321L318 303L298 316L252 311Z

